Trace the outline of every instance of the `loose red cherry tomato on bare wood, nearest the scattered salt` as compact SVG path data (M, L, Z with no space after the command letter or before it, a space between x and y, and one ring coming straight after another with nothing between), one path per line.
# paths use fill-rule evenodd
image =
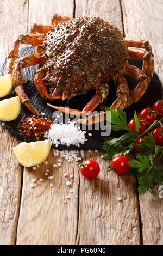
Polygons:
M94 179L99 174L99 164L94 160L86 160L79 166L80 172L86 179Z

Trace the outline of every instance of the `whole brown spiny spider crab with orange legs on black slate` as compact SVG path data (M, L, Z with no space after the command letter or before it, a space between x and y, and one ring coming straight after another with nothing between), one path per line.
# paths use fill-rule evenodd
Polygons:
M35 53L18 58L20 43L35 46ZM128 59L143 60L142 70L129 65ZM83 111L49 105L61 112L80 117L80 123L96 123L105 112L89 114L109 93L108 81L114 80L117 99L111 108L124 109L137 102L146 92L154 72L154 56L148 41L123 38L110 23L98 18L70 19L55 14L52 26L34 24L29 34L20 35L8 56L6 73L13 74L14 88L21 102L39 115L24 93L21 69L41 64L34 72L37 90L45 99L70 99L95 89L96 94ZM123 74L137 81L133 91ZM104 109L104 108L103 108ZM81 118L85 115L84 118Z

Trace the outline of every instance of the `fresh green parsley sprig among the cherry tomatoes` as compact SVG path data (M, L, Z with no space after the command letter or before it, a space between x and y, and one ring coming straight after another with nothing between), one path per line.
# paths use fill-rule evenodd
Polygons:
M135 131L129 129L127 115L122 109L117 108L116 112L113 109L106 108L106 111L111 111L111 130L124 130L127 132L119 138L108 137L104 139L102 150L104 151L105 159L111 160L115 156L128 154L134 149L137 139L146 135L143 142L139 145L139 148L142 150L136 150L135 159L129 162L132 168L130 174L138 179L140 184L138 190L140 194L144 194L146 190L152 190L155 183L162 184L163 169L156 166L156 163L158 163L159 159L163 156L163 147L155 144L154 137L150 132L155 126L160 125L161 133L163 135L163 127L161 123L163 121L163 115L159 121L155 120L145 132L139 135L140 123L142 121L147 123L147 121L139 120L136 111L134 113ZM153 111L151 108L149 108L149 113L158 114L157 111Z

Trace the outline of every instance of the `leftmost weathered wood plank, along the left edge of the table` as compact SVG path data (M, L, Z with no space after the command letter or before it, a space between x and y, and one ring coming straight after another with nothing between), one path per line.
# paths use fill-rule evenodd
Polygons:
M0 59L10 51L17 35L27 32L28 1L0 2ZM21 15L18 15L20 11ZM17 139L0 125L0 245L14 245L20 205L22 167L12 154Z

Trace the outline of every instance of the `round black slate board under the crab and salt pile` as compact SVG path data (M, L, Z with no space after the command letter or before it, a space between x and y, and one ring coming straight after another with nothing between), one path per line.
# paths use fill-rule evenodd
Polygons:
M25 56L25 55L33 53L33 52L34 52L33 46L24 47L20 50L19 57ZM4 75L6 61L7 61L7 58L5 58L2 61L2 63L0 64L0 75ZM132 61L130 60L129 64L133 64L140 69L142 68L142 62L138 61L138 60L132 60ZM54 112L54 109L48 107L47 103L52 103L53 105L57 105L57 106L65 106L66 101L64 102L62 100L46 100L40 96L39 92L37 91L37 89L35 87L34 81L33 81L34 70L37 68L38 68L38 65L30 66L29 68L22 69L22 77L28 80L27 83L24 83L24 91L27 94L27 96L29 97L33 106L37 109L37 111L39 111L39 113L41 113L41 112L45 113L45 117L54 121L54 119L52 119L52 114ZM129 83L129 88L133 89L136 85L136 82L131 77L126 77L126 78ZM109 81L108 84L110 86L110 92L109 92L109 95L106 98L106 100L102 103L102 105L104 105L104 106L111 106L111 103L114 102L114 100L116 99L116 88L114 86L114 82ZM95 95L95 92L89 91L86 93L86 95L73 97L68 102L68 106L70 108L82 110L83 107L86 105L86 103L91 99L91 97L93 95ZM1 98L1 100L9 98L9 97L14 97L14 96L16 96L15 90L12 89L10 94ZM161 99L161 96L162 96L162 86L159 81L159 77L154 73L154 76L151 80L151 83L149 84L149 87L148 87L145 95L143 95L143 97L140 99L139 102L134 103L133 105L131 105L130 107L128 107L126 109L128 120L133 118L134 109L136 109L136 111L139 113L142 108L148 107L148 105L152 106L156 100ZM96 110L100 111L99 106ZM26 141L35 141L34 137L27 137L26 135L22 135L22 133L20 133L20 121L23 119L24 116L31 117L32 113L30 111L28 111L28 109L25 106L21 105L21 113L16 120L9 121L9 122L1 122L1 123L5 129L9 130L12 134L16 135L18 138L25 139ZM89 132L92 133L92 137L88 136ZM112 135L112 136L116 136L116 135L117 134L114 133L114 135ZM85 142L84 145L80 145L80 148L74 147L74 146L66 147L66 145L60 145L58 147L58 149L59 150L63 150L63 149L95 150L95 149L101 148L101 144L102 144L103 138L104 138L104 137L101 137L101 130L86 131L86 138L88 139L88 141ZM43 139L43 138L41 138L41 139Z

